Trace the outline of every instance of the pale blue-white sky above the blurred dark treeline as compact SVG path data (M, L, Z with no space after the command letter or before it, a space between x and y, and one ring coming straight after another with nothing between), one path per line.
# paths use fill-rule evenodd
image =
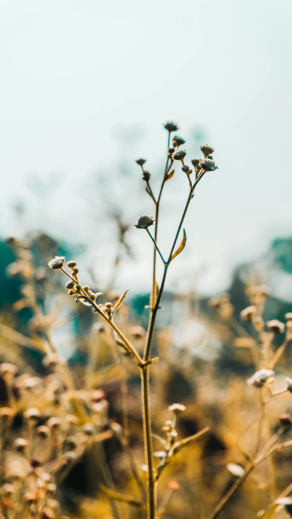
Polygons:
M117 171L119 158L145 156L161 174L161 124L173 119L188 158L198 153L192 129L204 129L219 170L193 200L188 247L169 286L194 269L200 290L223 288L235 263L265 250L273 236L291 234L291 20L288 0L0 0L2 236L34 227L69 241L74 218L75 239L90 240L104 264L112 250L104 208L98 194L86 204L80 193L94 172L108 179ZM133 144L117 139L136 129ZM54 173L62 181L50 194ZM175 227L187 196L180 173L165 190L164 250L172 237L164 229ZM31 174L48 183L47 201L32 195ZM133 223L153 214L139 176L114 188ZM21 222L11 211L18 202L27 209ZM123 269L121 286L137 286L147 269L150 247L135 231L139 261ZM145 289L147 277L143 282Z

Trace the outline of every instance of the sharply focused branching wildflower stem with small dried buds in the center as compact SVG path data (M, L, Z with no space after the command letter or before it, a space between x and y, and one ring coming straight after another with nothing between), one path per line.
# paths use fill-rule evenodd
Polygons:
M179 452L180 449L182 449L184 446L188 445L191 442L197 441L208 430L208 428L206 427L199 433L194 434L184 440L178 441L177 432L175 430L176 416L184 410L184 406L180 404L174 404L170 407L170 412L174 414L174 419L171 422L171 425L167 426L168 430L165 431L167 434L167 439L161 439L162 445L164 446L164 454L158 456L160 458L159 465L155 464L152 446L149 372L151 365L154 362L159 361L157 357L151 357L156 317L158 310L160 309L160 302L164 290L164 284L168 269L171 265L171 262L175 260L176 256L178 256L178 254L180 254L184 250L186 245L186 232L185 229L183 229L182 240L179 246L176 248L187 210L194 196L194 190L196 189L197 185L202 180L206 172L214 171L215 169L217 169L213 157L212 155L210 155L211 152L214 152L214 149L207 145L202 146L201 150L204 157L201 159L194 159L194 162L196 164L196 172L193 175L194 179L192 180L192 169L190 169L189 166L185 163L186 151L185 149L182 149L180 147L185 143L185 140L183 138L175 136L173 138L172 147L170 147L171 134L178 130L178 126L173 122L166 122L164 128L168 132L168 149L166 153L166 165L162 175L161 186L158 195L155 195L151 188L151 174L144 169L146 160L142 158L136 160L138 166L140 166L142 169L142 179L146 183L146 192L151 197L154 203L155 210L155 217L141 215L138 218L137 223L135 225L137 229L146 230L147 234L149 235L152 241L152 244L154 245L152 265L152 288L149 301L150 315L148 330L145 338L145 348L143 356L140 355L140 353L136 350L134 345L123 334L123 332L120 330L120 328L117 326L115 322L115 312L122 305L128 289L124 291L124 293L120 296L120 298L115 304L112 302L107 302L105 304L99 303L99 297L101 296L101 293L94 293L90 290L88 285L81 284L81 282L79 281L79 270L76 266L75 261L69 261L67 263L68 270L64 268L63 257L56 256L49 262L50 268L59 270L69 278L69 281L66 284L66 288L68 289L69 295L75 296L76 303L80 302L82 304L90 306L96 313L97 317L103 319L110 327L112 327L112 330L116 337L117 344L122 346L129 353L129 355L132 357L132 360L136 363L138 369L140 370L145 448L145 470L147 472L146 510L148 519L155 519L157 515L157 485L160 474L162 473L164 467L166 467L166 465L168 465L171 462L175 454ZM159 249L159 244L157 241L160 201L165 183L170 181L174 174L174 169L172 168L175 167L176 163L181 163L182 171L187 176L188 192L185 208L180 218L176 233L174 235L171 250L168 253L168 256L164 258ZM149 227L154 227L154 232L152 234L150 233ZM164 266L163 276L160 282L157 280L156 275L157 255L159 255L160 260L163 262Z

